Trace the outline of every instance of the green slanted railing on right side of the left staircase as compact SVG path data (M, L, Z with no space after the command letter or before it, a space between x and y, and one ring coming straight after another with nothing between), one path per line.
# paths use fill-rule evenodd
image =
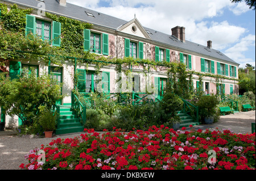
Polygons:
M76 111L77 116L80 117L82 120L82 124L85 124L86 122L86 106L84 106L79 98L72 92L72 100L71 100L71 106L74 111Z

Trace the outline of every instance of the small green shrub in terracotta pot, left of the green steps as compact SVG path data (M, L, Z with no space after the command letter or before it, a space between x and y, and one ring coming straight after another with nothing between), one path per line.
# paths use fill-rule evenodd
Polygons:
M56 118L57 118L57 112L52 112L51 110L48 110L44 106L40 106L40 115L38 117L39 124L44 129L44 136L46 138L51 138L53 131L56 129Z

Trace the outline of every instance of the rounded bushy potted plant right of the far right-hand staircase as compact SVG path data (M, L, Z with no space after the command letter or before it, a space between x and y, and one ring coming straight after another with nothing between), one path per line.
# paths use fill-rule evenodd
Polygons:
M218 103L218 98L215 95L204 95L197 102L200 116L203 117L206 124L213 124L214 115L217 113Z

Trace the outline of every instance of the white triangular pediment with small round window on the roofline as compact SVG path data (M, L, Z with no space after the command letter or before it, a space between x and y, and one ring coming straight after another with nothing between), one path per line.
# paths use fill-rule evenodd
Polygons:
M137 18L123 24L117 29L117 31L152 40Z

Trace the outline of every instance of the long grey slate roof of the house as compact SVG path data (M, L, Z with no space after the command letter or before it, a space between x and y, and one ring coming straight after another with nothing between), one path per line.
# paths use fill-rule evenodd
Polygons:
M39 8L38 3L40 2L38 0L2 0L2 1L16 3L17 5L32 7L34 9ZM97 24L98 26L111 28L113 30L117 30L118 27L127 23L126 20L122 20L122 19L107 15L108 12L105 12L105 13L97 12L90 9L86 9L85 7L73 5L71 3L67 3L66 6L61 6L57 0L43 0L43 2L45 2L47 12L51 12L52 14L67 16L69 18L82 20L84 22L88 22L92 24ZM92 13L94 17L88 16L85 13L85 11ZM206 46L199 45L197 43L193 43L187 40L185 41L185 43L183 43L182 41L177 40L174 36L168 35L166 33L158 32L146 27L144 27L144 29L147 31L150 31L151 33L149 33L149 35L151 39L159 43L184 49L184 52L185 50L189 50L192 52L203 54L205 56L210 56L213 58L218 58L220 60L228 61L233 64L237 64L237 62L225 56L225 54L221 53L218 50L209 49Z

